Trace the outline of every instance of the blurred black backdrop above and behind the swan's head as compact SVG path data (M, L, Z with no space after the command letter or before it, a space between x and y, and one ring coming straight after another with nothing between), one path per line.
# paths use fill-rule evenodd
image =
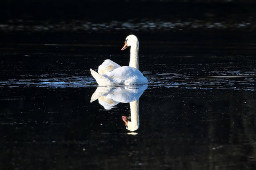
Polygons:
M225 0L1 1L0 42L104 43L130 33L142 41L254 42L255 8L254 1Z

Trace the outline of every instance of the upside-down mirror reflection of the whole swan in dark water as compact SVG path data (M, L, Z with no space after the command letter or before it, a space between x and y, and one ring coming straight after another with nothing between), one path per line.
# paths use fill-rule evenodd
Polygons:
M98 87L92 95L90 102L98 99L105 109L112 109L118 103L129 103L131 116L122 116L126 129L135 131L139 128L139 97L147 89L147 84L142 86Z

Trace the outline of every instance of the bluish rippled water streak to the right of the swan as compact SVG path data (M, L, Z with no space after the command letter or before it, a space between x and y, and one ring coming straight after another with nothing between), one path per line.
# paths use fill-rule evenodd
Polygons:
M233 72L232 72L233 74ZM148 73L147 78L151 86L148 88L186 88L186 89L234 89L255 91L255 74L239 75L187 75L177 73L162 73L152 75Z

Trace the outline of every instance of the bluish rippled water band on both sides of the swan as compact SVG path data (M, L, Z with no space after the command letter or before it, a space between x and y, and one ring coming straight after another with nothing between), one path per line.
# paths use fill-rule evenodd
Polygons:
M180 73L143 73L148 78L148 88L185 88L185 89L233 89L255 91L255 74L237 74L230 71L226 75L191 75ZM216 74L216 73L215 73ZM81 88L96 87L91 76L46 77L32 79L9 79L0 82L0 87L44 87L44 88Z

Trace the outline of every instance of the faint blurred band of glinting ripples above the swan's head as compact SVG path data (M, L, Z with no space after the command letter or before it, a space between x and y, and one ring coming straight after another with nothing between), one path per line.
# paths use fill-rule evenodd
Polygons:
M31 24L32 23L32 24ZM47 24L46 24L47 23ZM0 31L3 32L81 32L88 33L101 33L101 32L123 32L123 31L139 31L139 32L169 32L169 31L183 31L183 30L246 30L254 31L255 25L250 23L249 20L242 22L234 22L233 20L221 20L220 22L213 22L209 20L126 20L120 22L114 20L112 22L92 23L85 20L69 20L49 24L47 21L30 22L27 24L26 20L9 20L6 24L0 24Z

